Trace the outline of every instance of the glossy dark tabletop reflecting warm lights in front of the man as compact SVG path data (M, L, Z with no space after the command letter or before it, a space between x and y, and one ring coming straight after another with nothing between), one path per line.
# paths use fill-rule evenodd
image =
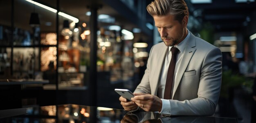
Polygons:
M50 105L0 110L0 123L238 123L234 118L164 116L153 112L85 105Z

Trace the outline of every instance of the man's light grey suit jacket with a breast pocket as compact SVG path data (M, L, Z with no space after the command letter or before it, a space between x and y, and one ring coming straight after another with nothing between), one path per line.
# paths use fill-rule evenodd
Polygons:
M135 93L157 96L167 49L164 42L151 48L145 74ZM213 115L220 95L221 78L220 49L191 33L177 69L172 100L169 100L170 114Z

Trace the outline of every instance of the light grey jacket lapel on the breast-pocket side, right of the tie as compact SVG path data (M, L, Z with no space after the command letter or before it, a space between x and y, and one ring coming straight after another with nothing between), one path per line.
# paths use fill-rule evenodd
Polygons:
M178 68L177 74L175 77L175 83L173 86L173 96L180 84L183 73L185 72L193 54L195 53L196 49L193 47L195 47L195 36L190 32L190 37L189 37L189 40L188 40L185 50L184 50L184 54L183 54L184 56L181 59L180 67ZM172 96L172 98L173 98L173 96Z

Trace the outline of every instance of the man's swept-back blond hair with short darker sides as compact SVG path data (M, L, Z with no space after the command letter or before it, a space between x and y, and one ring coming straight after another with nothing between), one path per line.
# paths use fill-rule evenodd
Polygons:
M184 0L155 0L148 4L147 11L151 16L175 15L175 20L182 22L189 16L189 8Z

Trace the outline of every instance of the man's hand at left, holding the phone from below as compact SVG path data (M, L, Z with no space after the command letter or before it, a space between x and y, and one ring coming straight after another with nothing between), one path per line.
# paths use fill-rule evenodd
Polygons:
M119 101L121 101L121 105L124 107L124 110L126 111L132 111L136 110L138 108L138 105L136 105L133 101L128 101L123 96L120 96Z

